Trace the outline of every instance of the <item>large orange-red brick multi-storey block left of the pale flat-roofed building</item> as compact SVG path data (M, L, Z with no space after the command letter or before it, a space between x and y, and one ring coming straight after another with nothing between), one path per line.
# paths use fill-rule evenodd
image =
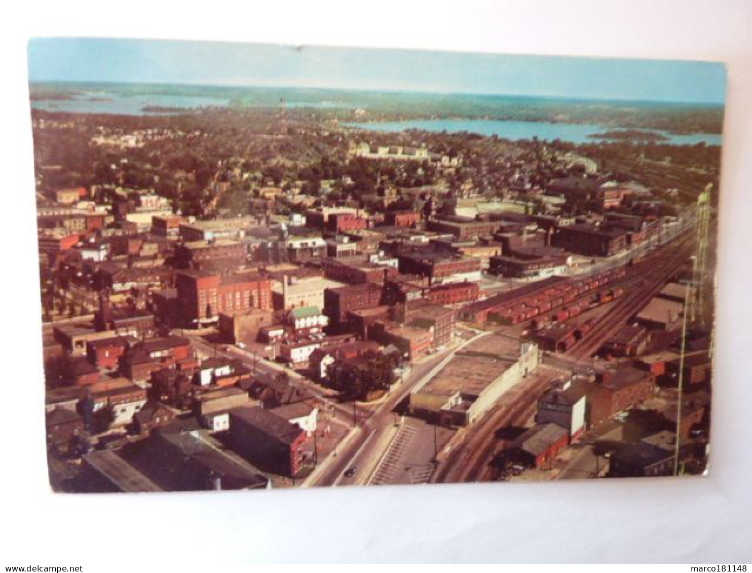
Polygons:
M272 308L271 280L256 273L179 271L175 288L180 318L186 325L212 322L220 314Z

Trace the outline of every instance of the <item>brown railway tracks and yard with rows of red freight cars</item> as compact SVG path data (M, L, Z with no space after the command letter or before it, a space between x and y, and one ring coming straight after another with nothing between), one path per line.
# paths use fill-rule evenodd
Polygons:
M572 344L545 352L543 363L534 373L505 393L474 426L460 429L438 455L431 481L492 480L495 471L491 462L510 441L508 434L533 423L538 399L552 390L557 380L573 372L614 368L610 362L593 359L593 355L678 275L693 252L695 241L695 235L686 232L640 262L617 271L587 281L565 279L533 284L531 287L537 288L528 288L517 296L506 293L502 310L493 308L488 313L496 312L497 316L500 314L506 318L493 328L532 339L541 337L550 329L564 330L572 332ZM520 303L520 299L535 302L546 295L561 304L549 308L544 302L540 306L541 310L544 309L542 316L528 314L524 320L519 318L530 312L524 309L532 307ZM522 310L513 314L513 308Z

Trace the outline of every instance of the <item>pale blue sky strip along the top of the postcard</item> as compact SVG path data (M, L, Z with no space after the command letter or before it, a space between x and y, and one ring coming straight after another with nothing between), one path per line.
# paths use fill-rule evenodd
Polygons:
M29 42L29 79L723 103L715 62L95 38Z

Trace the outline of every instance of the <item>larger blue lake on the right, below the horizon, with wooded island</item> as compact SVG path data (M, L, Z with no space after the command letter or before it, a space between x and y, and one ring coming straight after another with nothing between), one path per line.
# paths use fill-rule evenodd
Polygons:
M533 121L504 120L406 120L383 121L372 123L348 123L347 126L368 129L375 132L404 132L407 129L421 129L427 132L472 132L481 135L498 135L500 138L518 139L560 139L574 144L603 141L588 135L613 131L614 126L602 126L596 123L550 123ZM675 145L694 145L705 142L708 145L720 145L720 135L715 133L693 133L675 135L658 129L651 129L669 138L668 141L656 143ZM612 140L611 140L612 141Z

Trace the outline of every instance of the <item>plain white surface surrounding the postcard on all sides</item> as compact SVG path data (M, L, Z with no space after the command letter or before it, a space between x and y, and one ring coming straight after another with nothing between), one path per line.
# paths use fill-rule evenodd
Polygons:
M29 2L5 5L2 18L0 566L106 560L150 570L159 559L194 565L752 560L752 2ZM710 477L53 495L44 459L25 53L26 41L41 35L727 62Z

